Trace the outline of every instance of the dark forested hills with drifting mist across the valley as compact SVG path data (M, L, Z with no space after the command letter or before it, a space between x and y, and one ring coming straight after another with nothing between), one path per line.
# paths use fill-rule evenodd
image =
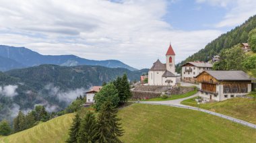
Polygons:
M0 72L0 87L12 89L12 95L0 92L0 121L10 120L18 109L34 109L41 104L46 109L60 110L92 86L113 81L127 73L130 81L139 81L148 69L131 71L104 66L57 66L43 64L30 68Z

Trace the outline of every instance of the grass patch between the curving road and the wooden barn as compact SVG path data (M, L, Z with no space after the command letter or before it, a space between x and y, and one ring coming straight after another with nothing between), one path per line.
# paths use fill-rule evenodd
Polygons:
M197 105L195 98L187 99L181 103L184 105L200 107L210 111L216 111L218 113L230 115L232 117L256 124L256 101L253 99L233 98L220 102Z

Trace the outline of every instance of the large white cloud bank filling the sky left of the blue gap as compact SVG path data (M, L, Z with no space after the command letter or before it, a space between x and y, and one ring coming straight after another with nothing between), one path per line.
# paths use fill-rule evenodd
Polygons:
M170 1L118 2L0 0L0 43L150 68L164 59L170 40L179 62L222 34L174 30L162 19Z

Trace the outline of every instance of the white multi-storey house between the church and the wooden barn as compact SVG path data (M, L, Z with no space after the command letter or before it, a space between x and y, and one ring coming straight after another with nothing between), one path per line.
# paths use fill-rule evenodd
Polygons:
M195 83L195 77L203 70L212 70L212 64L207 62L187 62L181 67L181 80L187 83Z

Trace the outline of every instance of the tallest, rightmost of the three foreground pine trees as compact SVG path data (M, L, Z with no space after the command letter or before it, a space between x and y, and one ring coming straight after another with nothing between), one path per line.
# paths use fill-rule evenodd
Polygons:
M120 136L123 136L120 119L117 118L117 109L113 107L110 101L104 102L98 116L98 139L96 142L121 142Z

